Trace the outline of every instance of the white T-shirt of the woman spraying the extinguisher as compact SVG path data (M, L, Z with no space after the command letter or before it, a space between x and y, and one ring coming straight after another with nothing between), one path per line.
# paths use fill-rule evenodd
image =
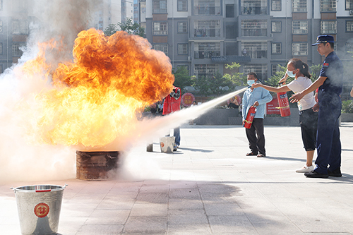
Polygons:
M294 93L297 93L297 92L301 92L302 90L305 90L306 88L309 88L311 84L312 83L309 78L298 77L297 79L292 80L292 82L289 83L287 86ZM299 111L310 109L315 104L316 102L313 97L313 92L310 92L309 94L304 95L304 97L301 100L299 100L298 109Z

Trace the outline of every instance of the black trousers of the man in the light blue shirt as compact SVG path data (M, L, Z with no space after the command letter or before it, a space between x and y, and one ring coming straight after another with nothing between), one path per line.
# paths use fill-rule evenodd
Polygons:
M251 152L260 152L266 155L265 151L265 135L263 135L263 119L253 119L251 128L245 128L246 137L249 140Z

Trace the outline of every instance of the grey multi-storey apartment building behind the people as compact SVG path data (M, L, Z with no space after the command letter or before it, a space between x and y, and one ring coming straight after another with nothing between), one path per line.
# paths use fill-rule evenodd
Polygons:
M321 64L311 44L322 34L333 35L340 59L352 64L353 0L146 0L145 6L152 47L190 75L225 73L226 64L237 62L240 72L265 80L293 57Z

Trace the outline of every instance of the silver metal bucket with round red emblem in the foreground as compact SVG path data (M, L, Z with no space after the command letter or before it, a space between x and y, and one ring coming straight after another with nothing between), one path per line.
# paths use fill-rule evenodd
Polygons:
M65 186L34 185L12 188L23 235L56 234Z

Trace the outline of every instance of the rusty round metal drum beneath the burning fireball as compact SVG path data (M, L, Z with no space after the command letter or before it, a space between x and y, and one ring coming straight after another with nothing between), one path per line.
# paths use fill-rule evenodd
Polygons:
M118 159L118 151L76 151L76 179L109 180L118 168Z

